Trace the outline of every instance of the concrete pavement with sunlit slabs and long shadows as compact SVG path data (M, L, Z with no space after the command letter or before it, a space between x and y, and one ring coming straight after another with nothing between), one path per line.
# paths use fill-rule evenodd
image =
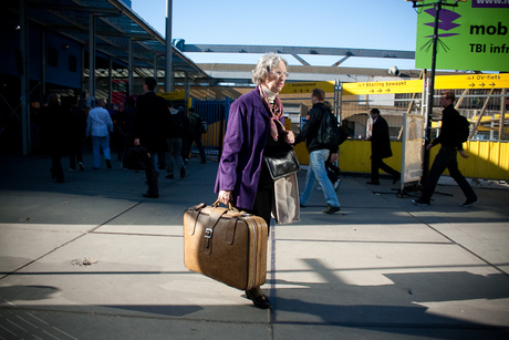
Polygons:
M476 182L480 202L463 208L447 177L437 190L453 196L430 206L342 177L335 215L314 190L301 223L271 228L273 308L259 310L184 267L183 213L215 202L217 161L162 173L159 199L117 161L63 159L63 184L50 163L0 157L0 339L509 338L507 184Z

